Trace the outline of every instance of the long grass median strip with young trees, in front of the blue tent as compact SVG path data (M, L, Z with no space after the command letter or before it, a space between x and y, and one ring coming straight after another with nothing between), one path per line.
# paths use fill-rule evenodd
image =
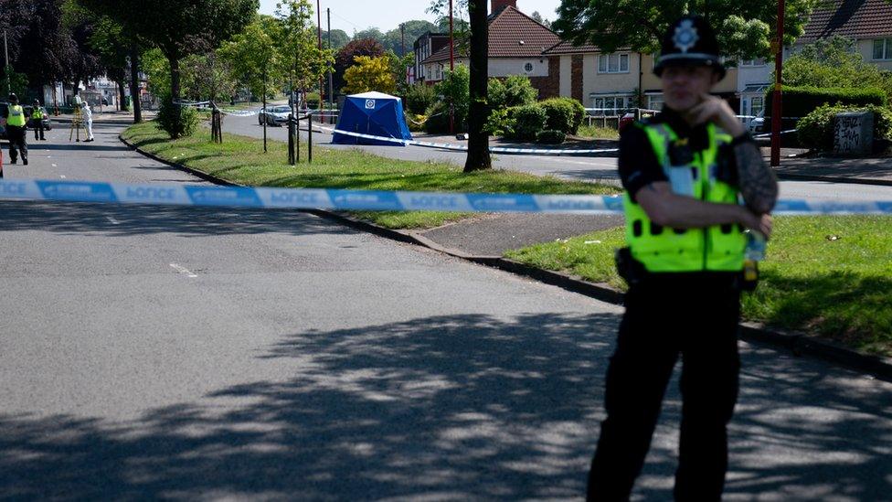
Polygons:
M225 123L223 127L226 128ZM199 128L194 136L171 141L154 122L133 125L122 136L165 160L253 187L525 194L614 194L617 191L608 185L501 169L464 174L461 167L451 164L401 161L358 149L338 150L319 145L313 145L310 165L306 161L306 144L301 145L302 163L288 166L287 145L282 142L270 141L269 153L265 154L262 140L224 134L224 143L214 144L210 142L210 131L204 128ZM473 216L433 211L354 214L391 229L432 228Z

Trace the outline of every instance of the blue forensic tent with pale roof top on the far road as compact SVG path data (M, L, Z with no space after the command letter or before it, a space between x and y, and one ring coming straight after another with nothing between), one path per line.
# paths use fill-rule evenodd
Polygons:
M371 134L386 138L412 139L409 126L403 115L403 103L396 96L381 92L364 92L347 96L341 116L337 119L337 129L351 133ZM399 143L373 140L338 134L332 137L332 144L385 144L405 146Z

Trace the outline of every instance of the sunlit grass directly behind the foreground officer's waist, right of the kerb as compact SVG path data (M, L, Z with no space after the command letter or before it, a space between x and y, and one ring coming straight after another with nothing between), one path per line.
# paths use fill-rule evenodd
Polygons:
M892 356L890 223L885 217L777 218L759 287L744 294L743 317ZM624 289L613 267L613 250L623 245L623 230L613 229L506 256Z

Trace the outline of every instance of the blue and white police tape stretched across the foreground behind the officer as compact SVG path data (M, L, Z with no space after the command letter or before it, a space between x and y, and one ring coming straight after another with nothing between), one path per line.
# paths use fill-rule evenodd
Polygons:
M384 192L329 188L204 187L197 185L122 185L80 181L0 180L0 199L373 211L529 212L617 214L622 198L594 195L529 195L443 192ZM889 201L781 200L774 214L892 215Z

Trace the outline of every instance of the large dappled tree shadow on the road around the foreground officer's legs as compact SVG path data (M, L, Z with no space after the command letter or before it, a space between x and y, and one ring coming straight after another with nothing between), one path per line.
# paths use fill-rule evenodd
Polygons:
M293 360L282 382L218 390L134 422L0 417L0 494L578 499L601 416L604 334L617 323L451 315L307 330L258 354ZM746 359L729 499L887 498L885 392L847 388L823 366L768 350ZM663 417L672 429L676 388ZM654 444L638 497L671 498L673 448Z

